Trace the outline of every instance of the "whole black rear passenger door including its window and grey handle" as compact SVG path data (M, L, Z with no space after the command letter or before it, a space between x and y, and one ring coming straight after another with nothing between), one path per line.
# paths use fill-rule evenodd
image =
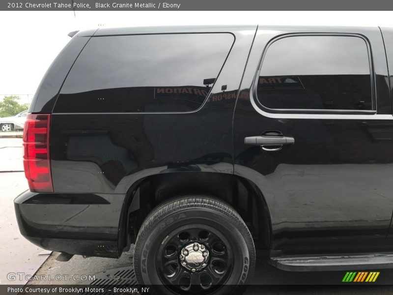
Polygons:
M381 32L259 28L234 116L235 174L260 188L272 248L381 250L393 117Z

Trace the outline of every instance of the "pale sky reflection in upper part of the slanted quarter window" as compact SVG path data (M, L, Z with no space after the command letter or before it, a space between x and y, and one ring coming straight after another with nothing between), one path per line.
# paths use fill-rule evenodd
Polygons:
M229 33L92 37L61 93L203 86L203 79L217 77L233 41Z

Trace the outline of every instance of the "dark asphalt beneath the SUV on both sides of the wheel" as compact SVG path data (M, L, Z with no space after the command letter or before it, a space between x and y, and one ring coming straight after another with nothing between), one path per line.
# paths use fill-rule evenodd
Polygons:
M132 268L132 253L123 253L120 259L109 258L83 258L74 256L68 262L56 261L58 253L53 252L51 257L41 266L36 275L46 275L55 278L61 276L63 279L51 282L31 281L29 285L61 284L74 285L86 284L80 278L100 277L102 272L110 272L113 268ZM350 270L350 269L348 269ZM266 253L257 251L257 264L251 285L246 295L260 294L295 294L295 295L331 295L331 294L393 294L393 270L381 269L378 280L375 283L341 283L346 271L316 271L316 272L289 272L277 269L267 263ZM113 271L112 271L113 272ZM66 275L66 279L64 279ZM77 276L77 280L72 279ZM381 286L384 285L384 286Z

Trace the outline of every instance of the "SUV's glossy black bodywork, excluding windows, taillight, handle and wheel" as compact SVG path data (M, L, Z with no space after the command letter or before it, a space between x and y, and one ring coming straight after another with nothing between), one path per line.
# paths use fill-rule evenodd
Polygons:
M253 211L267 221L265 228L260 226L254 232L271 231L270 239L264 239L272 255L392 249L385 238L393 210L389 178L393 167L393 117L380 30L260 27L256 35L255 30L253 26L122 28L74 36L71 42L91 35L105 38L117 34L229 32L235 42L201 108L192 107L183 113L127 113L113 109L108 114L108 108L99 105L92 106L91 112L84 105L83 113L66 113L65 100L63 108L54 104L66 78L64 73L69 72L79 55L77 47L67 60L59 57L56 73L63 75L63 81L56 80L48 95L44 90L37 91L30 109L52 112L50 151L55 193L52 197L25 193L15 200L22 233L41 247L56 251L118 256L125 243L128 214L132 217L147 199L138 190L146 178L171 174L173 179L175 175L193 175L195 178L189 179L197 179L225 174L248 181L246 186L254 190L258 199L249 203L252 205L247 205L248 198L240 197L241 190L234 191L238 202L249 206L242 216ZM360 34L368 40L375 70L374 109L377 115L386 116L311 119L259 114L252 99L262 53L273 38L288 33ZM390 44L386 39L385 43ZM85 43L81 45L80 50ZM203 77L207 78L212 77ZM43 84L46 79L51 78L44 78ZM267 130L293 136L295 144L277 152L244 144L245 137ZM162 195L167 196L165 191L162 189ZM226 190L221 194L230 199ZM163 200L159 196L157 202ZM99 203L103 199L109 204ZM65 205L64 200L74 203ZM95 204L84 204L82 200ZM266 213L260 216L261 212ZM253 218L248 223L253 224ZM74 221L78 224L72 224ZM94 252L103 240L112 249L107 251L109 254Z

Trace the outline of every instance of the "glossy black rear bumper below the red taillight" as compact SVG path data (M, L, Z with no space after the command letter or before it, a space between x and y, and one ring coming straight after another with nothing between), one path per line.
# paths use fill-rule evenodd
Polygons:
M119 257L123 194L33 193L14 200L21 234L41 248Z

